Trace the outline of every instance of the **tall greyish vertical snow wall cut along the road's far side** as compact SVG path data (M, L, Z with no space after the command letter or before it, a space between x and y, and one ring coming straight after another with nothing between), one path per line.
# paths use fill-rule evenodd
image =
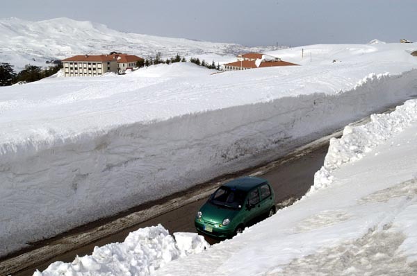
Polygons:
M311 94L133 123L0 153L0 255L26 243L268 162L417 96L417 70ZM19 147L17 147L19 148ZM28 147L26 147L28 148Z

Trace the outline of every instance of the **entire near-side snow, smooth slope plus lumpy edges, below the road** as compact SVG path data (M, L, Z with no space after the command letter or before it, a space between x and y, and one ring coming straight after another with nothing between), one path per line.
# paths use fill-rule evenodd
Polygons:
M312 188L211 248L158 225L34 275L416 275L417 100L347 126Z

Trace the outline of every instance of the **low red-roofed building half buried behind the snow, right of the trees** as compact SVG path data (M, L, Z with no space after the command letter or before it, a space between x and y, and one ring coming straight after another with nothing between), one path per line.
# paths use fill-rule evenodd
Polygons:
M272 55L264 55L262 53L245 53L238 55L238 61L224 64L225 71L246 70L261 67L276 67L276 66L293 66L298 65L291 62L286 62L280 58L275 58Z

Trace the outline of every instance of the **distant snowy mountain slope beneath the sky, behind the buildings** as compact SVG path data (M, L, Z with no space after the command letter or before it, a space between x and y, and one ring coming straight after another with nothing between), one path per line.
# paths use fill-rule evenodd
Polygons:
M268 47L202 42L183 38L122 33L103 24L56 18L26 21L0 19L0 62L22 69L25 64L45 66L47 60L68 58L76 54L99 54L118 51L144 57L161 52L163 57L180 55L231 55L265 51ZM217 60L216 60L217 61Z

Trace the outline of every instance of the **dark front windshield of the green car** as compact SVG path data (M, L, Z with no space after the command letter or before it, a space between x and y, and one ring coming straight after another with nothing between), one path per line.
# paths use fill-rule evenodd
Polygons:
M211 195L208 201L214 205L240 209L245 201L245 197L245 191L239 191L229 187L220 187L213 195Z

